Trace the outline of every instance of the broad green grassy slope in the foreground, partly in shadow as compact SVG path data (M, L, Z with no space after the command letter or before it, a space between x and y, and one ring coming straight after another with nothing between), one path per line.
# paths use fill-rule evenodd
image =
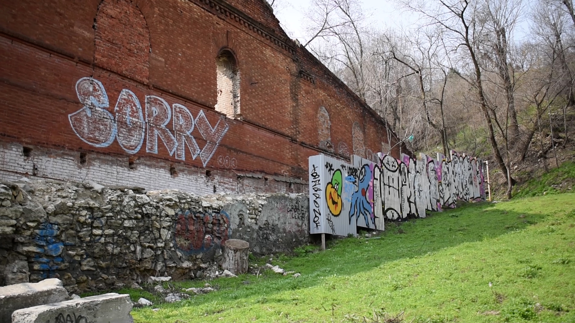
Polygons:
M382 322L403 311L405 322L575 322L574 226L575 194L470 205L274 261L300 278L217 279L217 292L132 314L166 323Z

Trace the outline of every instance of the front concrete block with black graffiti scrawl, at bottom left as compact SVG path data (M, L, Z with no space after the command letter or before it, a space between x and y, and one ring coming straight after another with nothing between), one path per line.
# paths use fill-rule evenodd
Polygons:
M109 293L71 301L20 309L12 314L13 323L45 322L133 322L129 295Z

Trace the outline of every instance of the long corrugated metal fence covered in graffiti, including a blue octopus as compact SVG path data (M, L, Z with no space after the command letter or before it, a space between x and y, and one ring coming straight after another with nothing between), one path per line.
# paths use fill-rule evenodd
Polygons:
M309 157L310 233L384 230L385 219L425 217L428 211L455 207L457 200L485 200L483 163L477 158L454 151L450 158L438 154L436 159L375 155L377 161L352 155L351 164Z

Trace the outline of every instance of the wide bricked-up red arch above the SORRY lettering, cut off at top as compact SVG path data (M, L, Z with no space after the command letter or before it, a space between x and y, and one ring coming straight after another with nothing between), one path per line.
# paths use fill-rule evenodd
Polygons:
M150 30L130 0L102 0L95 20L94 64L148 83Z

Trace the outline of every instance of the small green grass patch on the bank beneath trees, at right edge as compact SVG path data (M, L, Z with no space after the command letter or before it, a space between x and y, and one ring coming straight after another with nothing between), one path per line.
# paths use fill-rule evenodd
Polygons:
M563 184L563 187L561 187ZM552 168L538 178L533 178L513 189L513 197L532 197L545 194L557 194L573 190L575 184L575 163L567 161Z

